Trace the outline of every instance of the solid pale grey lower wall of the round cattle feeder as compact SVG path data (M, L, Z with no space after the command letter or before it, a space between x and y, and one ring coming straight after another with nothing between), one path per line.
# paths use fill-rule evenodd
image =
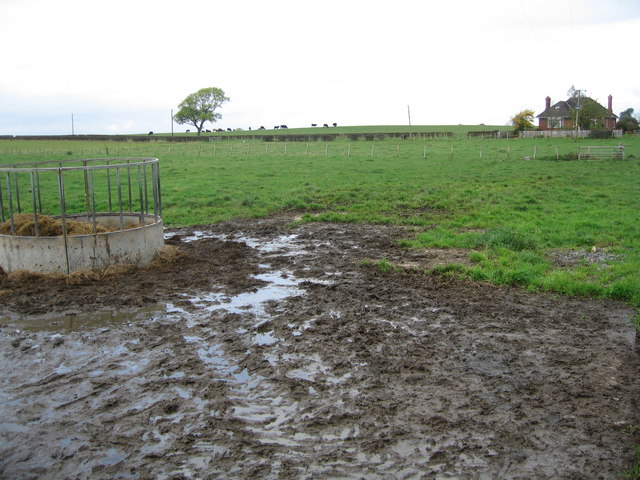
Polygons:
M86 215L67 218L87 221ZM120 214L99 213L96 221L107 228L119 228ZM0 235L0 268L5 273L16 270L71 273L109 265L148 265L164 247L162 220L145 215L144 227L131 227L140 225L140 214L128 213L123 214L123 223L126 230L67 236L66 242L63 236Z

